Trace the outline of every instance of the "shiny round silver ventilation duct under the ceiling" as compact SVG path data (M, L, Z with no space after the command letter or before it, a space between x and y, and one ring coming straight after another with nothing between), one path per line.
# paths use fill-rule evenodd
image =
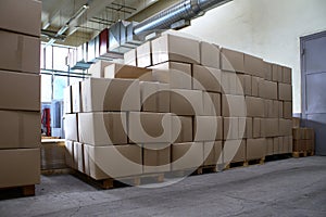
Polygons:
M139 36L150 34L158 29L168 29L171 25L180 20L191 20L203 15L214 7L231 0L183 0L164 11L142 21L134 28L134 34Z

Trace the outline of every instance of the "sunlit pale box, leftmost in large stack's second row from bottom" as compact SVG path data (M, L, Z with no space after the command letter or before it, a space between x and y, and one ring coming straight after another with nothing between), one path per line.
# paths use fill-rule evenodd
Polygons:
M64 115L64 133L65 139L79 141L79 131L78 131L78 114L66 114ZM80 123L83 124L83 123ZM85 125L86 123L84 123Z

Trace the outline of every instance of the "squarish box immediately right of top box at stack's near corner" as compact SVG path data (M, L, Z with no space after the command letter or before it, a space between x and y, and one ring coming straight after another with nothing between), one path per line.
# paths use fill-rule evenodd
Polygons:
M170 112L170 85L148 81L139 85L142 112Z

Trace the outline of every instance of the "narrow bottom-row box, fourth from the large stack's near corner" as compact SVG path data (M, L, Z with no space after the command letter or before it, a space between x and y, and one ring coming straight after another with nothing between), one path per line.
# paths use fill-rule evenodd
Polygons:
M204 166L223 164L222 141L203 143Z

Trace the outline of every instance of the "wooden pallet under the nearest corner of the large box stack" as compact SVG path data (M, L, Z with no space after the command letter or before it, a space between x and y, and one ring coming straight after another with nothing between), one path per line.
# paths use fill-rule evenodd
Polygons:
M141 186L146 183L161 183L164 181L164 174L143 174L117 179L108 178L103 180L95 180L91 177L76 170L73 173L73 175L91 186L104 190L128 186Z

